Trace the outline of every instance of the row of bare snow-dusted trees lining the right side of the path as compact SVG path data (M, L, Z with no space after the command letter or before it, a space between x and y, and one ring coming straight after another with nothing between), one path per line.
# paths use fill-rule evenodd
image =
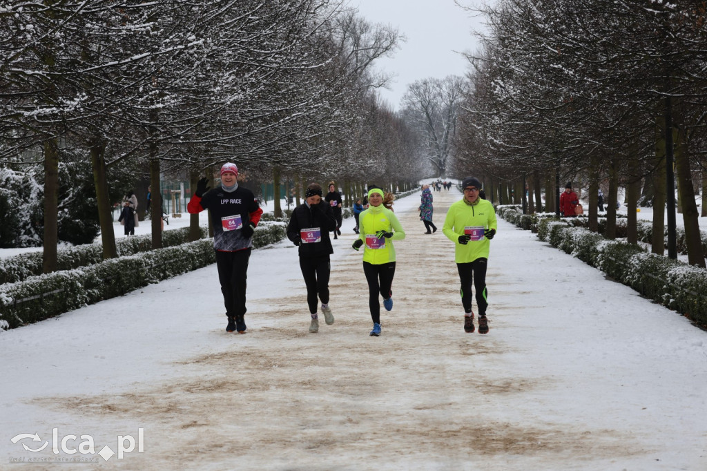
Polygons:
M707 175L704 2L499 0L483 13L489 33L469 54L457 170L504 184L527 178L537 201L541 186L582 180L594 229L600 185L609 202L624 185L631 241L643 188L660 253L674 170L689 262L704 266L693 185L694 172ZM607 216L612 238L614 204Z

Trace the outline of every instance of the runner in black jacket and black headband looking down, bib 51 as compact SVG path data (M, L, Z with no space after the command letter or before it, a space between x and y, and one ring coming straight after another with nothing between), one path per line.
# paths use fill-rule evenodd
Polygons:
M327 325L334 323L329 308L329 255L334 253L329 231L337 228L332 208L322 201L322 187L311 183L305 192L306 201L292 211L287 226L287 237L299 246L300 269L307 286L307 303L310 308L310 332L319 331L317 297L322 301L322 313ZM334 233L336 237L336 233Z

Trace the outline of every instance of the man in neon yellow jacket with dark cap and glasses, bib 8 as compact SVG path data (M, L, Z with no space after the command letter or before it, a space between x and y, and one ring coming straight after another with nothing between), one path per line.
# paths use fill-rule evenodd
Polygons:
M481 182L477 178L464 178L464 197L453 203L447 211L442 232L455 243L455 262L462 285L464 331L474 332L472 311L472 281L476 289L479 308L479 334L489 332L486 308L486 263L489 260L490 240L498 228L493 204L479 197Z

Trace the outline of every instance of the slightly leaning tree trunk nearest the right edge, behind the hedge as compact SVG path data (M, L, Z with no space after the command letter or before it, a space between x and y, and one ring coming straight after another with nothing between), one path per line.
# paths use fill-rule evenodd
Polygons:
M682 220L685 226L687 261L691 265L705 268L705 256L700 238L699 214L690 171L689 144L684 132L679 132L675 149L675 169L679 194L682 195Z

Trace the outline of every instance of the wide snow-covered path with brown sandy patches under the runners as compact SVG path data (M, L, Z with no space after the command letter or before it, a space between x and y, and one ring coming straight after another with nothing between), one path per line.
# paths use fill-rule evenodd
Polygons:
M433 196L441 229L460 194ZM83 455L96 468L707 469L707 332L499 220L491 332L466 334L453 244L423 235L418 204L395 205L407 238L378 338L352 220L336 322L314 335L286 242L251 256L247 335L223 330L215 266L4 332L0 467L80 455L58 428L97 452L143 429L142 453Z

